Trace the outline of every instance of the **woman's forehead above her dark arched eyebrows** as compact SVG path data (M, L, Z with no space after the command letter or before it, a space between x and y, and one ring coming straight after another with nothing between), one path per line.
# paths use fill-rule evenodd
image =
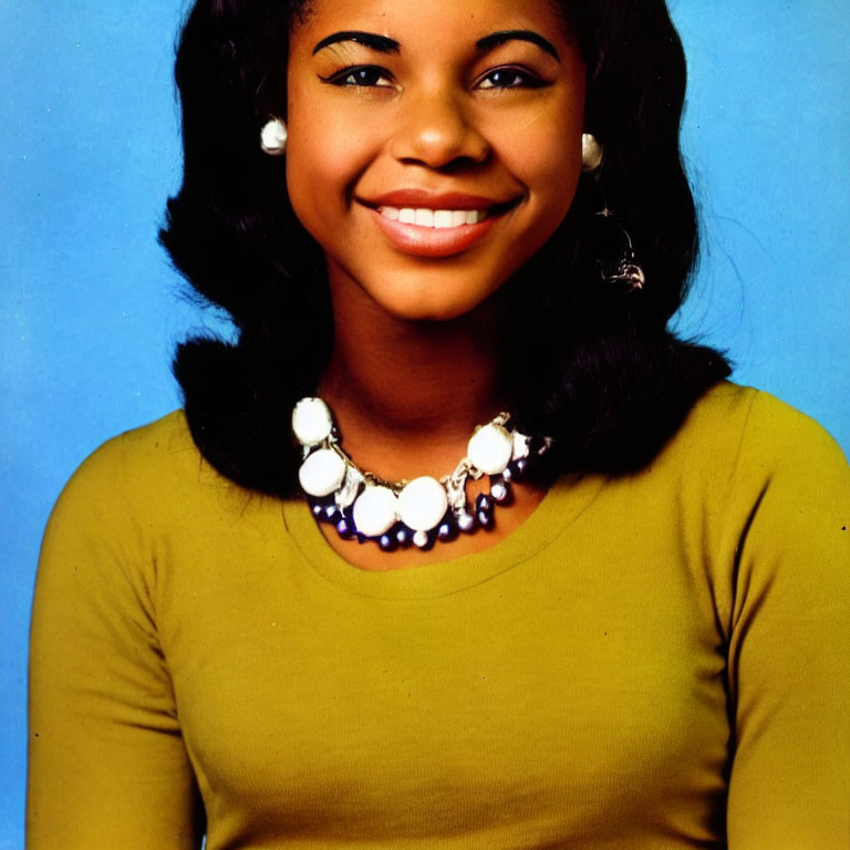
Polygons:
M566 40L571 34L563 3L556 0L311 0L291 35L318 41L341 30L366 30L438 51L515 28Z

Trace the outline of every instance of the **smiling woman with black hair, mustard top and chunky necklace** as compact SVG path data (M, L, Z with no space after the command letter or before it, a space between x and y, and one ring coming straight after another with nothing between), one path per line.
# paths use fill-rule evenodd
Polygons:
M667 330L664 2L197 0L177 81L238 338L54 510L30 849L846 850L850 473Z

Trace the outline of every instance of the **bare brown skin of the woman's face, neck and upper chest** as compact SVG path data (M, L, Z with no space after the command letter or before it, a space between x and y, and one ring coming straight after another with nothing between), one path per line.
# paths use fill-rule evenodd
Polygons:
M318 48L351 31L397 46L357 38ZM479 43L506 31L531 35ZM474 427L502 408L493 297L569 210L584 89L578 44L547 0L319 0L290 33L287 184L324 249L335 325L320 395L361 468L445 475ZM376 211L408 189L426 193L415 207L475 196L488 218L469 245L454 230L434 256L428 240L445 232L386 226ZM543 494L516 495L490 533L428 552L386 556L323 530L366 569L447 560L498 542Z

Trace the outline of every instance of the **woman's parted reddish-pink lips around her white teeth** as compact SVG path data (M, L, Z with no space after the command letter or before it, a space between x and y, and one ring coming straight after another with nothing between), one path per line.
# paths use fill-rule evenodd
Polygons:
M421 189L396 189L360 204L373 217L393 247L414 257L454 257L483 239L493 226L521 200L508 201L465 193L434 194ZM421 227L393 221L379 212L379 207L418 207L425 209L486 209L487 217L475 225L456 227Z

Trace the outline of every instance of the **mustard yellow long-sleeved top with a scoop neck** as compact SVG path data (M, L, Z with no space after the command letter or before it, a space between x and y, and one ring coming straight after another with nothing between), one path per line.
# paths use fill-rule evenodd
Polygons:
M850 470L723 384L640 475L370 572L180 413L48 528L30 850L850 847Z

